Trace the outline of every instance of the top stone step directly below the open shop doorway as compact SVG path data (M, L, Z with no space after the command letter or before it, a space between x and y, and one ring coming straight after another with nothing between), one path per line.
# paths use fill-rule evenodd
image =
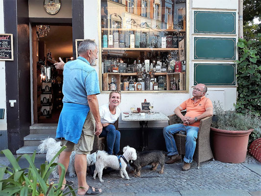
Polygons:
M30 134L55 134L57 123L35 123L30 126Z

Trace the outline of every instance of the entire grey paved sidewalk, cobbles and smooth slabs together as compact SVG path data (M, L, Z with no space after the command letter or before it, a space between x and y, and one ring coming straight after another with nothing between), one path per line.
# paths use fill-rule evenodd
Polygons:
M38 164L44 162L43 158L36 160ZM5 157L0 157L0 164L8 165ZM117 171L104 175L103 183L98 176L94 180L87 175L87 182L102 188L101 196L261 196L261 164L249 155L241 164L207 161L198 170L192 162L189 171L181 171L182 165L165 165L163 174L158 173L160 168L155 172L146 166L141 177L128 172L130 180L121 178ZM67 179L74 181L73 188L77 188L76 177Z

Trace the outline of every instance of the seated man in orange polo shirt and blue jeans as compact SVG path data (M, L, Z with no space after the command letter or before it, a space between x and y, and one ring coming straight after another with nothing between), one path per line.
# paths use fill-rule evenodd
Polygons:
M166 149L169 160L166 164L172 164L181 159L178 153L173 134L179 131L187 132L186 136L186 152L184 157L184 165L182 170L190 170L190 163L193 160L193 154L196 148L196 139L200 120L213 115L213 105L209 98L205 97L208 88L204 84L197 84L193 88L193 98L189 98L179 105L174 113L181 118L183 124L171 124L163 129L163 135L166 142ZM182 110L186 110L185 116L181 114Z

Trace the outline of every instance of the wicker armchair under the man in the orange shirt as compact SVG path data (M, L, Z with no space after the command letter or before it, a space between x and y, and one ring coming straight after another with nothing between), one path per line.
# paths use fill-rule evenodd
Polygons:
M182 123L181 119L175 114L169 115L168 124ZM193 160L197 162L197 169L199 169L199 163L208 161L210 159L214 160L214 156L210 147L210 126L212 122L212 116L201 119L198 136L196 140L196 149L193 155ZM174 134L174 140L179 154L185 155L186 147L186 133L185 135L176 133Z

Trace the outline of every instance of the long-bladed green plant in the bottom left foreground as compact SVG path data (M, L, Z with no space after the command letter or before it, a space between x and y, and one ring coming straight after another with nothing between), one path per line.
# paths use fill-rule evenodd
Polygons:
M58 184L54 184L53 181L50 181L48 178L57 163L53 163L54 159L64 150L66 147L62 147L53 159L47 163L47 161L41 165L40 169L36 168L34 164L35 154L30 157L28 154L24 154L15 158L9 149L2 150L0 153L4 154L5 157L9 160L12 165L10 167L0 167L0 195L1 196L66 196L72 194L75 196L75 193L71 186L71 190L68 193L63 193L61 191L63 178L65 176L65 167L58 163L62 168L61 178ZM18 161L21 157L24 157L28 163L29 168L22 169L19 166ZM26 172L28 171L28 172ZM4 173L8 175L7 178L4 177Z

